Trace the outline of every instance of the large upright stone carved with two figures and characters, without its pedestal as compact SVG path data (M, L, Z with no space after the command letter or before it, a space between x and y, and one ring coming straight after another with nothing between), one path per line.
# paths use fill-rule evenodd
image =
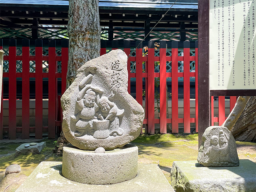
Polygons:
M127 92L127 56L114 50L86 62L61 97L62 129L80 149L122 147L140 134L141 105Z

